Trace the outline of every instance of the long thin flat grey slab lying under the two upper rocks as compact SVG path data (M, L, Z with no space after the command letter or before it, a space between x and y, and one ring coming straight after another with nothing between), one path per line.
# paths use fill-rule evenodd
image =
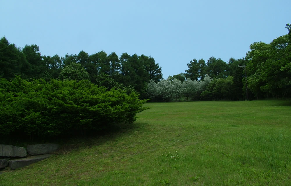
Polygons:
M25 167L25 166L30 165L32 163L39 162L41 160L49 158L50 156L51 156L51 154L44 154L44 155L40 155L40 156L31 156L28 158L20 158L20 159L16 159L16 160L10 160L9 167L11 170L15 170L17 168Z

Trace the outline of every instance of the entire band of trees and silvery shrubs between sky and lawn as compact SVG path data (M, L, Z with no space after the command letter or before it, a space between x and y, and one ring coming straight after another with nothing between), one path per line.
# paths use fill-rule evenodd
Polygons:
M145 55L118 57L100 51L88 55L41 55L39 46L19 48L6 37L0 40L0 77L12 80L90 80L111 89L135 90L152 101L253 100L291 96L291 26L288 34L271 43L254 42L242 59L224 62L210 57L193 59L185 73L162 78L162 68Z

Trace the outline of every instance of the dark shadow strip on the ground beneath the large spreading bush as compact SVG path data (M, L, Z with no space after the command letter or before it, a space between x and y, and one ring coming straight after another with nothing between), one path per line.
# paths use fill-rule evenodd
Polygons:
M70 151L76 151L80 148L91 148L92 146L101 145L104 142L118 138L119 136L128 135L134 131L143 131L147 123L133 122L122 124L110 124L107 129L100 131L75 131L71 134L63 134L53 138L35 138L29 139L27 136L1 136L0 144L15 145L27 147L32 144L56 143L60 145L59 149L53 154L68 154Z

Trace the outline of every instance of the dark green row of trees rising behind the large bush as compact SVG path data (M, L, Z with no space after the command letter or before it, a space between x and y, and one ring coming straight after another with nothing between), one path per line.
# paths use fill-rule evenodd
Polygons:
M100 51L88 55L82 50L78 55L45 56L35 44L21 49L2 37L0 77L12 80L15 76L26 80L90 80L109 89L128 87L145 97L147 83L162 79L162 68L151 56L127 53L118 57L115 52Z

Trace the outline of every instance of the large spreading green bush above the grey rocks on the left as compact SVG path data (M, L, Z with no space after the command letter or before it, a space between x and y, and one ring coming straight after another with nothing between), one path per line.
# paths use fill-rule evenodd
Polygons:
M133 122L145 108L135 92L89 81L0 80L0 134L59 136Z

